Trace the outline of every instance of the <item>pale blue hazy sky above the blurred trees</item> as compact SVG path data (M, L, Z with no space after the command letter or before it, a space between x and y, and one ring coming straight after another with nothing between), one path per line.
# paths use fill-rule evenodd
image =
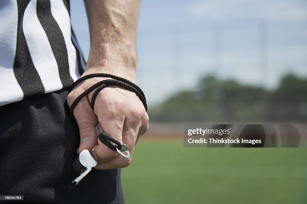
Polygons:
M87 58L83 1L71 1L71 21ZM307 1L141 0L137 53L149 105L209 74L274 89L285 73L307 77Z

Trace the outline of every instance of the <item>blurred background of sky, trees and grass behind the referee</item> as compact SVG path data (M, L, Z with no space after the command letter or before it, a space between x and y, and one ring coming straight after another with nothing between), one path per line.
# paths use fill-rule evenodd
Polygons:
M72 27L87 58L82 0ZM305 0L141 0L137 83L150 129L127 203L306 203L305 148L183 148L183 124L307 122Z

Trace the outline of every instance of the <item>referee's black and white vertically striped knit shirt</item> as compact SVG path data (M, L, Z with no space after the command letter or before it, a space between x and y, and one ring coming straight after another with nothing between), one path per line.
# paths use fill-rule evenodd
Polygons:
M69 0L0 0L0 106L70 87L84 69Z

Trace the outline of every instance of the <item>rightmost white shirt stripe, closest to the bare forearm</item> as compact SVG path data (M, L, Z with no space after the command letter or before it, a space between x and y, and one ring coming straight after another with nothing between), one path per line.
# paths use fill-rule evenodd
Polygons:
M76 49L72 44L71 39L70 17L63 1L50 1L50 3L52 16L56 20L64 36L68 54L70 76L74 81L76 81L80 77L80 74L77 69L78 60L76 55Z

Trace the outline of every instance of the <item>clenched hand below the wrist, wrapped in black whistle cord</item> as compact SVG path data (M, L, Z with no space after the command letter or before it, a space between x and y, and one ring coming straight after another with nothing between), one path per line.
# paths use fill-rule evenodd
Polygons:
M71 106L76 97L91 85L104 79L107 78L88 79L78 84L67 97L68 105ZM126 167L131 162L138 138L148 128L148 115L145 107L134 92L110 86L99 92L93 110L90 101L94 91L81 99L74 109L81 137L77 152L80 154L84 149L91 150L98 142L99 146L95 149L95 154L98 157L96 169ZM128 146L130 158L120 156L117 151L109 149L100 142L95 130L95 125L98 122L106 134L118 141L123 141Z

